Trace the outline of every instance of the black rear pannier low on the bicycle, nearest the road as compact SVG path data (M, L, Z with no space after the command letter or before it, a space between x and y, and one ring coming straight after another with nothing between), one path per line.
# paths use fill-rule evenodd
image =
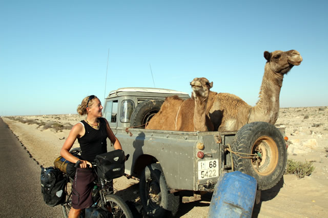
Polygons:
M55 167L41 169L41 191L43 199L49 206L56 206L65 202L66 179L61 171Z

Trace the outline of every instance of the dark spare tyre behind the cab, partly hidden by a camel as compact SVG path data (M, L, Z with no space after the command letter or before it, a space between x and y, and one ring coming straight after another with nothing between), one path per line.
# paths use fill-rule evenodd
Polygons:
M145 125L160 110L163 102L159 100L146 100L138 104L131 114L132 127ZM138 128L145 128L144 126Z

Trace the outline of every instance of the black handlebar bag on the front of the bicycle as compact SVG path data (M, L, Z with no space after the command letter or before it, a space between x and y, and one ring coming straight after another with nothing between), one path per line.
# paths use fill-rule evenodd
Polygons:
M124 175L125 155L122 150L114 150L96 156L97 173L99 178L115 179Z

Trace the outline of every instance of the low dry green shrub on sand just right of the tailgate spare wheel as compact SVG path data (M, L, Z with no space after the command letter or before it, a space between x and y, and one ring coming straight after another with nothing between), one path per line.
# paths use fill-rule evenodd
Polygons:
M298 178L310 176L315 169L315 166L308 161L301 162L296 160L288 160L285 174L294 174Z

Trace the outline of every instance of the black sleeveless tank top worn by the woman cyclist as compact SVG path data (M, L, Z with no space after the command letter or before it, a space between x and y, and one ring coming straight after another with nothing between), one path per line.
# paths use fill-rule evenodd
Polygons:
M107 131L104 118L98 118L100 122L99 130L92 128L85 120L81 120L84 124L86 133L77 139L81 147L81 159L94 161L98 154L107 152Z

